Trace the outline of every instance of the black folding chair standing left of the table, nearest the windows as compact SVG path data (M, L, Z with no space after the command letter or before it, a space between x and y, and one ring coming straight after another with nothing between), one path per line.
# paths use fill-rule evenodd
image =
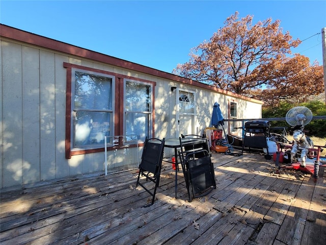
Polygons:
M139 165L139 174L136 183L136 187L138 185L142 186L153 198L151 204L146 206L151 206L155 200L156 189L159 184L159 177L161 173L162 159L163 159L163 150L164 150L165 138L162 140L157 138L145 139L144 150L142 154L142 161ZM146 181L143 181L140 177L145 176ZM149 190L145 183L150 180L155 183L154 190Z

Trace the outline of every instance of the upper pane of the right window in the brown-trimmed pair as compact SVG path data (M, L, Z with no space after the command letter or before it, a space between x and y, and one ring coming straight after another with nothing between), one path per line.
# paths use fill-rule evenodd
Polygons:
M151 111L151 86L126 82L126 111Z

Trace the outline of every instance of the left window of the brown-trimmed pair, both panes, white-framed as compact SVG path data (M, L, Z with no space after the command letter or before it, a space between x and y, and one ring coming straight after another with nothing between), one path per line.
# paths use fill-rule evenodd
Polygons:
M112 136L114 77L72 69L71 150L103 148Z

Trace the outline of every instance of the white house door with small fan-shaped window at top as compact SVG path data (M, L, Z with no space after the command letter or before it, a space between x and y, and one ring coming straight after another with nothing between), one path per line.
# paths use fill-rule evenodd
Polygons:
M195 92L177 89L177 135L195 134Z

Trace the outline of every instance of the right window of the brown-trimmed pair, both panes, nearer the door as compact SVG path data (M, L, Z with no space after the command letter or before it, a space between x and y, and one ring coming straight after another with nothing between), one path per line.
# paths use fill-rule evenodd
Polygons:
M137 135L144 140L151 137L152 128L152 85L139 81L125 80L125 135Z

